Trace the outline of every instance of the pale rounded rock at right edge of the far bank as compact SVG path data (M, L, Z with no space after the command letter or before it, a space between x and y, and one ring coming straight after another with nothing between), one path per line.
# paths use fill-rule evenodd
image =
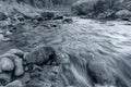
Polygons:
M131 17L131 11L120 10L120 11L116 12L115 15L116 15L116 17L119 17L119 18Z

